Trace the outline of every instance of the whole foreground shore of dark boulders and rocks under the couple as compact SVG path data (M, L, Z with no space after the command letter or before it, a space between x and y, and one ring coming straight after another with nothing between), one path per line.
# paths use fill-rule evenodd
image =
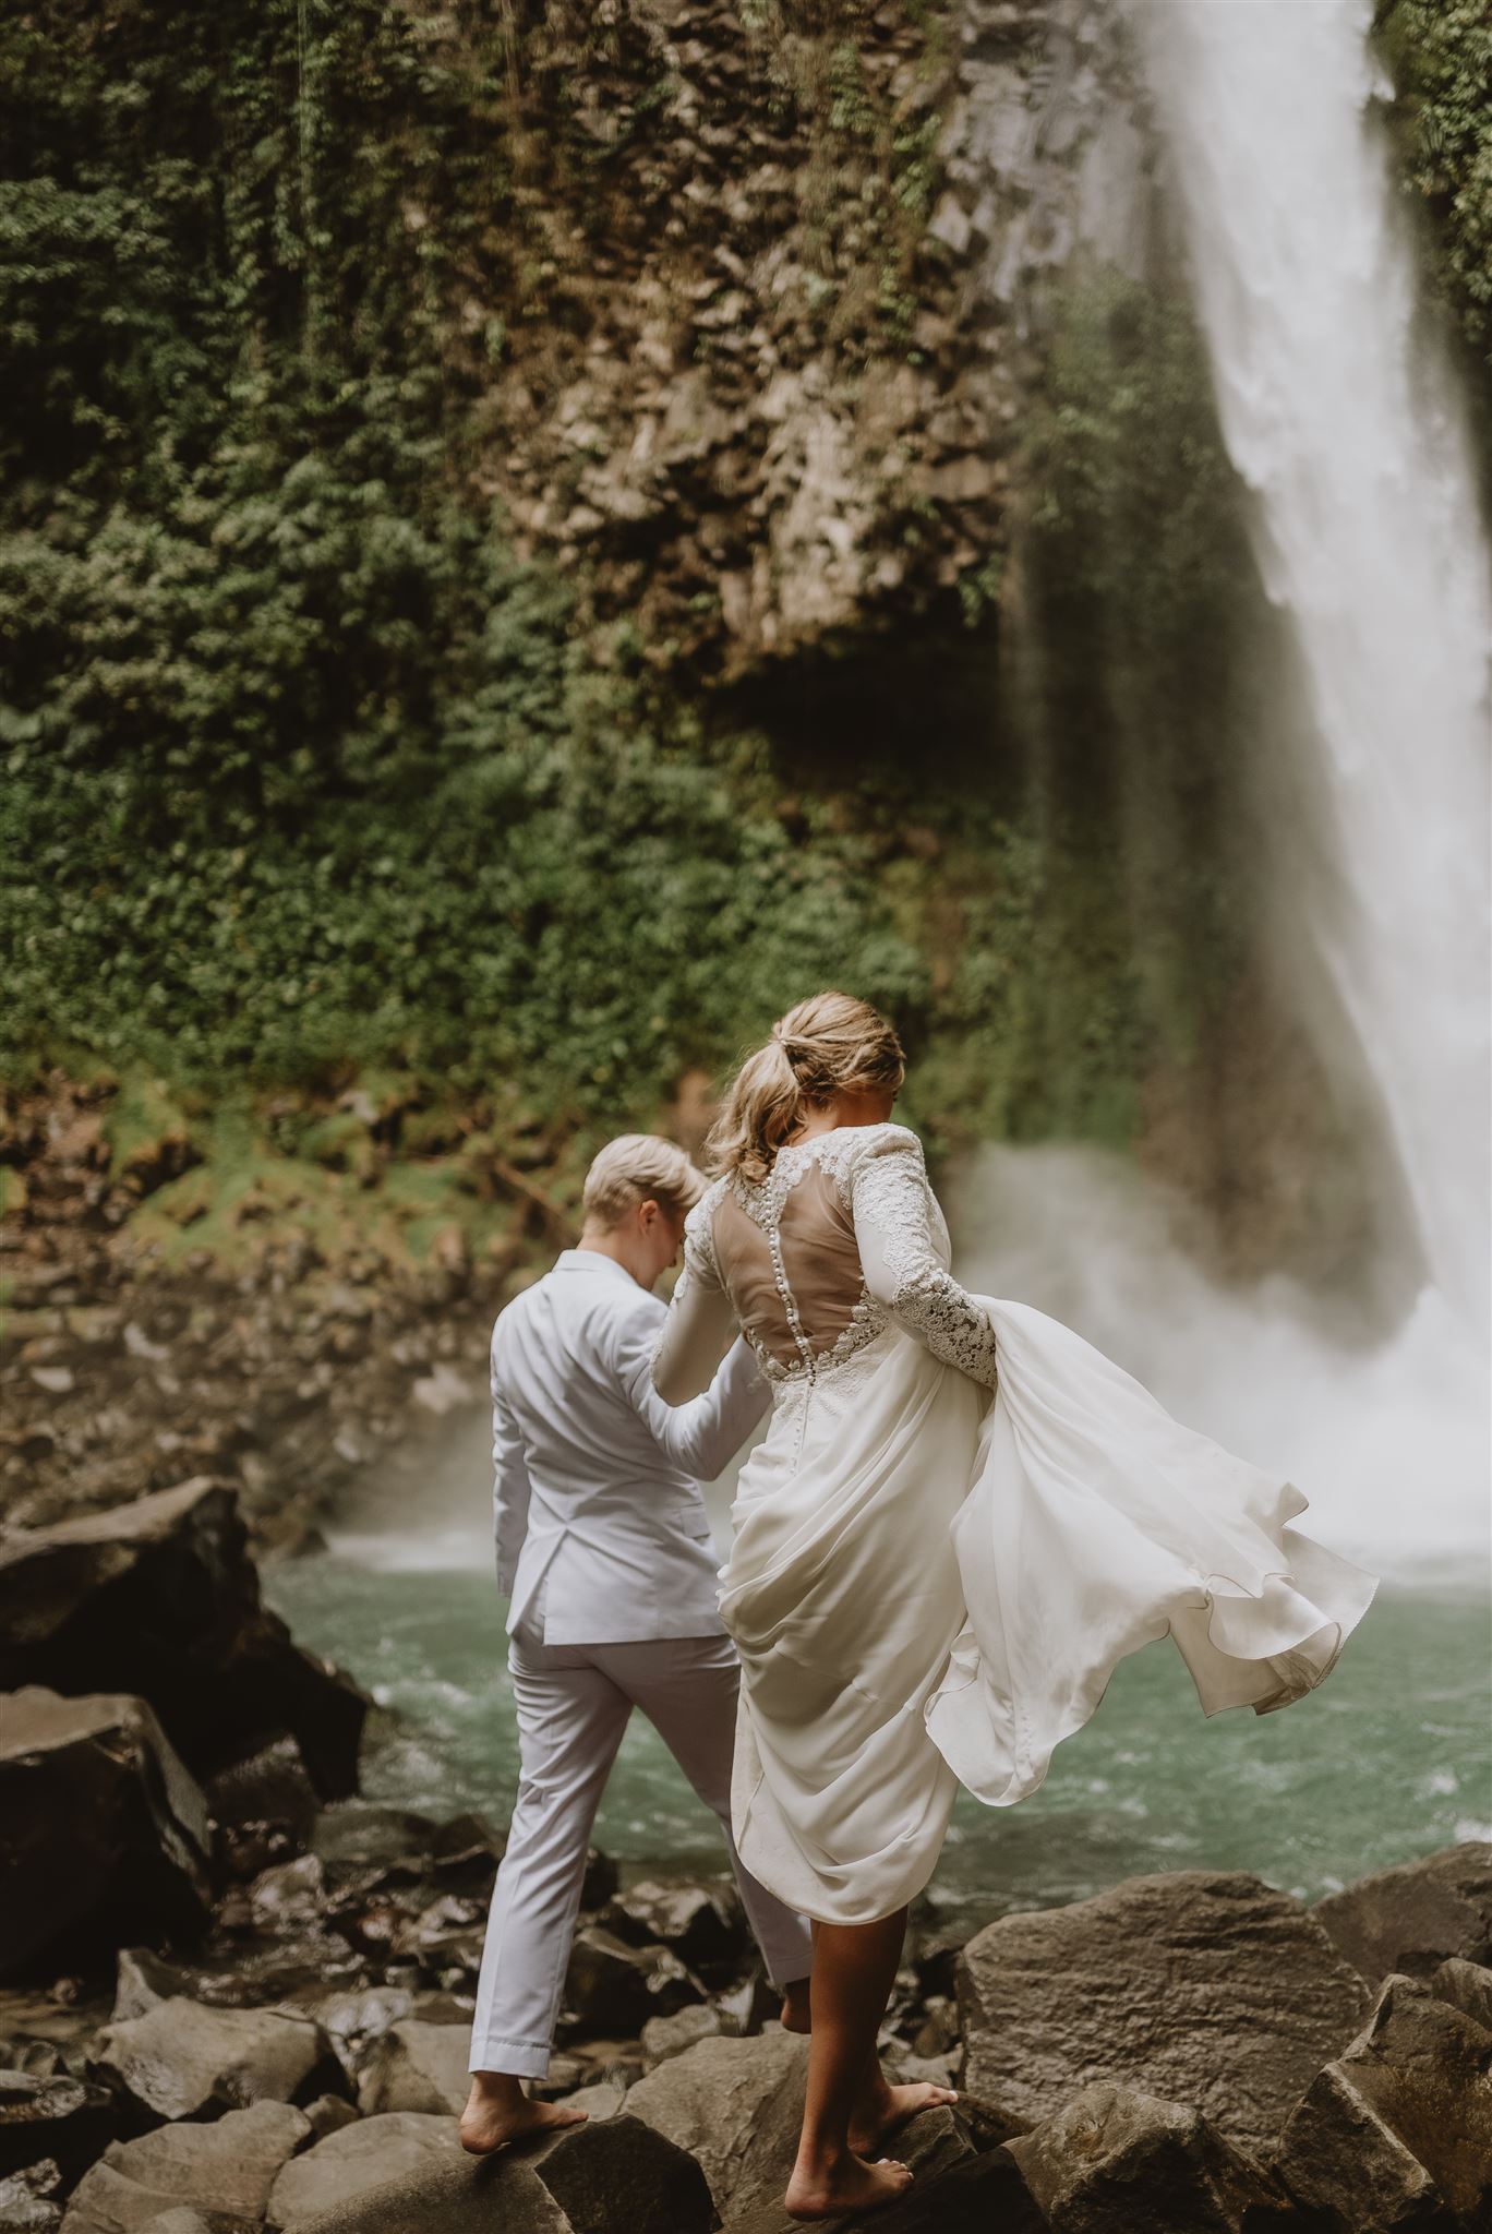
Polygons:
M0 2227L784 2234L806 2042L728 1879L592 1856L543 2089L590 2122L462 2156L503 1832L357 1796L369 1702L259 1604L232 1486L0 1537ZM1485 2227L1492 1850L925 1912L882 2051L960 2089L887 2234Z

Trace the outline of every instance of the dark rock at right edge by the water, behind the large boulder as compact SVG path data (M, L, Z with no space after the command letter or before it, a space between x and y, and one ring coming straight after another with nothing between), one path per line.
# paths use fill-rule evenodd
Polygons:
M1429 1977L1450 1955L1492 1964L1492 1845L1467 1839L1425 1861L1374 1870L1311 1910L1376 1986L1389 1970Z

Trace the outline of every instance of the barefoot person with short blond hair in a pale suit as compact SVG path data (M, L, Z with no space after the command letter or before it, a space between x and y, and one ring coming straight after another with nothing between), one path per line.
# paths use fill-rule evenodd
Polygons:
M672 1142L610 1142L585 1180L576 1249L491 1334L494 1521L509 1595L520 1780L471 2024L462 2145L482 2156L583 2111L536 2102L549 2069L585 1852L632 1707L715 1810L784 2022L809 2028L811 1935L742 1865L730 1830L739 1664L717 1613L699 1481L735 1457L768 1390L746 1340L679 1410L652 1387L666 1307L704 1177Z

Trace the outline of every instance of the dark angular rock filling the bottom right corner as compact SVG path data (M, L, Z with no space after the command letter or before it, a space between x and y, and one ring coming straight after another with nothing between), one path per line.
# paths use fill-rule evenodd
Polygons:
M1351 2234L1436 2207L1492 2218L1492 2033L1423 1979L1389 1975L1369 2022L1307 2089L1278 2149L1289 2192Z

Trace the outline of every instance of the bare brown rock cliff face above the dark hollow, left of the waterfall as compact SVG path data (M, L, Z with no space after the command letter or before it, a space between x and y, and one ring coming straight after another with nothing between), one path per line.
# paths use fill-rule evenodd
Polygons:
M603 0L511 54L462 324L523 547L701 677L976 619L1054 290L1153 252L1112 0Z

